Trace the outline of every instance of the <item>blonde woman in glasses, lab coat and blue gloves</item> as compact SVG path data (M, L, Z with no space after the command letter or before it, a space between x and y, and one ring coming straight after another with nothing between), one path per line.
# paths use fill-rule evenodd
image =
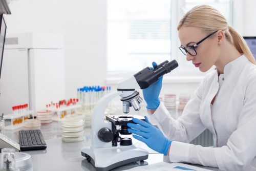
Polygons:
M129 132L171 162L187 162L222 170L256 170L256 66L243 37L210 6L188 11L178 25L180 50L201 72L209 73L173 119L158 96L162 80L143 90L150 117L164 133L133 119ZM156 63L153 62L153 67ZM208 129L214 147L189 144Z

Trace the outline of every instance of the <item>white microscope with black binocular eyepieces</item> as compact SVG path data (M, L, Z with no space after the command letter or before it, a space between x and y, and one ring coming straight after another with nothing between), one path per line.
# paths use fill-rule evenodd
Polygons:
M145 149L137 148L131 138L121 138L121 135L130 135L127 123L132 118L144 120L139 115L109 115L104 119L104 110L108 103L116 96L121 97L123 113L128 114L130 107L140 110L142 98L136 89L146 89L155 83L159 77L178 67L176 60L160 63L155 69L144 68L131 78L118 83L117 91L103 96L96 104L92 115L92 142L90 147L81 149L82 156L92 163L96 170L110 170L132 162L143 161L148 158Z

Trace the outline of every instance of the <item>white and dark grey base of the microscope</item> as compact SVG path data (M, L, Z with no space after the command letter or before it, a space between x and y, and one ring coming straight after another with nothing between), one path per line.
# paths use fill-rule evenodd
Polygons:
M146 160L148 152L145 149L137 148L134 145L94 148L82 148L82 156L92 163L96 170L110 170L115 167Z

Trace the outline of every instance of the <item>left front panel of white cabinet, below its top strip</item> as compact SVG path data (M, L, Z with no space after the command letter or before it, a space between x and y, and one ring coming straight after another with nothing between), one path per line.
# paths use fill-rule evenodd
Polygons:
M17 104L29 103L28 50L5 49L0 79L0 112L7 114Z

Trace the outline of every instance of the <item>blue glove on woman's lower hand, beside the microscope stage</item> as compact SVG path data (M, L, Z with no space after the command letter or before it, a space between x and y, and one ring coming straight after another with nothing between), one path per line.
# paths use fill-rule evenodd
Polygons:
M172 141L165 138L163 133L152 125L146 116L145 120L133 118L133 122L137 124L127 123L127 126L130 127L127 130L133 133L134 138L144 142L148 147L154 149L154 151L166 156Z

